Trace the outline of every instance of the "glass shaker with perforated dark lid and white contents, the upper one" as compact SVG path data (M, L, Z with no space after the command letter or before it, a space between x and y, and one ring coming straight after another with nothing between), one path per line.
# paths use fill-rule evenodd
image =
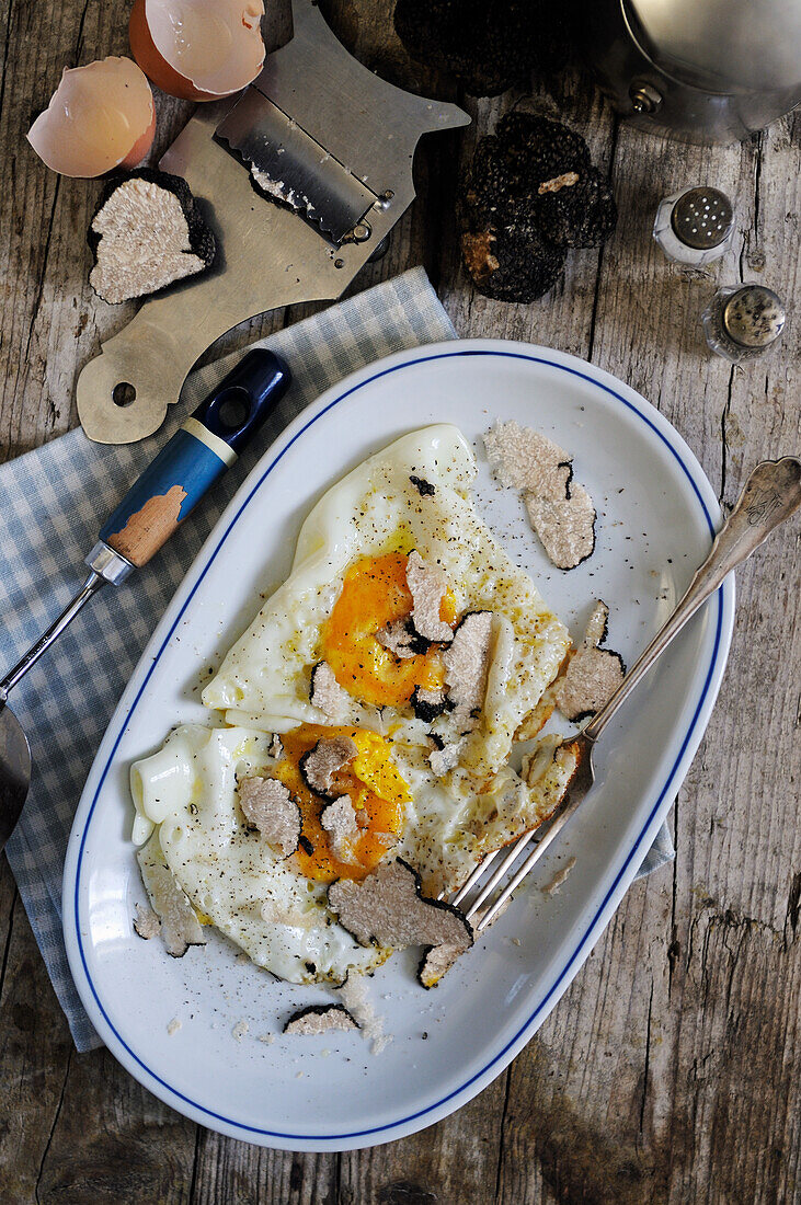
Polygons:
M660 201L654 239L669 259L701 268L720 259L731 245L734 229L735 213L726 194L699 186Z

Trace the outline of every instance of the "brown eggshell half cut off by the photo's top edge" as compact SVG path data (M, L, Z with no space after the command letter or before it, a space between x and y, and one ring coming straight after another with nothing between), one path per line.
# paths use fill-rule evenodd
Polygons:
M135 0L128 36L146 76L181 100L219 100L264 66L263 0Z

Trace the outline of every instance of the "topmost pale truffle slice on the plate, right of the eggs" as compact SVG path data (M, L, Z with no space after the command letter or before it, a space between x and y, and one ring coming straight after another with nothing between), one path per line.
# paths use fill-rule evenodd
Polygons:
M483 440L489 466L502 486L540 498L567 496L572 457L547 435L512 419L493 423Z

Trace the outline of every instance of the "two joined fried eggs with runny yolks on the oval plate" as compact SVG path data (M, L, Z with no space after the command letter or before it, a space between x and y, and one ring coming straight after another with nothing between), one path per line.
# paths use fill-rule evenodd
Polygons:
M158 827L198 913L291 982L341 981L391 952L363 947L338 924L331 882L400 857L425 894L453 890L488 852L550 815L575 771L554 737L540 737L523 770L510 765L516 739L540 723L570 637L476 513L476 471L459 430L437 425L331 487L301 528L287 581L204 690L226 727L177 728L132 768L135 841ZM436 639L397 652L382 634L412 631L413 556L441 583L428 619ZM448 657L476 615L489 621L479 704L420 713L420 692L453 693ZM322 665L338 692L336 719L314 688ZM351 753L323 790L305 758L335 737ZM277 780L298 806L289 856L248 823L237 793L248 777ZM347 857L324 817L342 797L353 807Z

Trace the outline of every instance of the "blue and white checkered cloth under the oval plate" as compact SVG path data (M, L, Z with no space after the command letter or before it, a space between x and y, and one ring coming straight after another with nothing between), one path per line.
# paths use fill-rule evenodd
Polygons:
M78 999L64 950L64 856L92 760L142 648L218 515L287 423L348 372L390 352L453 337L425 272L414 269L263 340L285 358L294 383L260 437L213 496L181 524L169 556L93 599L14 692L13 709L30 740L34 774L6 852L78 1051L99 1046L100 1039ZM151 439L105 447L75 430L0 466L0 665L16 663L66 606L102 521L238 355L194 372L182 404ZM641 872L672 856L665 829Z

